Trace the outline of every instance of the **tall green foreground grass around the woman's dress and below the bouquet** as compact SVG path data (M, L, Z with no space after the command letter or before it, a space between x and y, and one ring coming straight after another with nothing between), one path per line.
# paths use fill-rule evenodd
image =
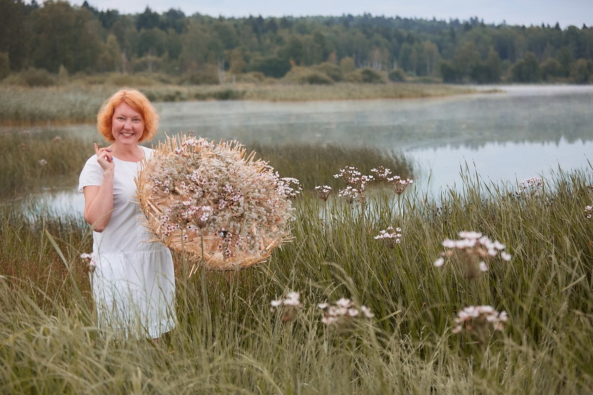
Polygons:
M32 221L2 208L2 393L589 393L593 388L593 202L590 172L545 180L538 197L467 180L438 202L378 187L361 207L309 194L295 202L295 242L267 264L209 272L212 322L199 276L176 257L177 329L159 343L99 336L80 252L91 235L78 216ZM374 239L393 224L403 240ZM506 244L468 280L435 268L443 239L478 230ZM46 232L47 231L47 232ZM51 235L52 237L48 236ZM52 246L63 253L63 261ZM270 300L301 293L294 319ZM352 297L374 319L320 323L320 301ZM479 342L451 333L470 304L506 310L503 332ZM211 331L206 331L212 325Z

